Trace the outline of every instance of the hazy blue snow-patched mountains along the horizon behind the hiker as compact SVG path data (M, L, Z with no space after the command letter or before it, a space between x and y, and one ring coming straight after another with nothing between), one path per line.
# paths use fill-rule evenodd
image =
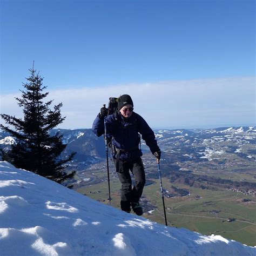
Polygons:
M52 135L63 134L63 142L68 144L66 154L77 152L75 162L89 165L105 159L103 136L98 138L91 129L53 129ZM256 127L219 127L216 129L176 129L154 130L163 156L172 161L211 161L221 159L224 154L234 154L246 160L255 161ZM6 132L0 132L0 148L8 150L15 139ZM145 156L149 148L142 140ZM75 164L74 162L74 164Z

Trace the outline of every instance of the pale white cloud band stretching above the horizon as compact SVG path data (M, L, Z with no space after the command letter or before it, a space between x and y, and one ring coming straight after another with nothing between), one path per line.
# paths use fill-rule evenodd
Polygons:
M255 77L48 90L53 103L63 103L62 128L90 128L109 97L124 93L151 127L255 125ZM22 116L14 95L1 96L1 113Z

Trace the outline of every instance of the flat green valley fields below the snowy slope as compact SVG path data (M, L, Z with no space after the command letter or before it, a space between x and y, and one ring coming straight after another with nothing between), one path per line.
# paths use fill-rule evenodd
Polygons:
M101 177L103 177L102 174ZM145 213L143 217L165 224L159 180L154 181L156 184L144 188L143 196L157 209L152 214ZM169 180L163 179L164 188L170 189L172 185L187 189L191 195L165 198L169 226L183 227L205 235L221 235L224 238L242 242L242 244L256 246L256 199L254 197L228 191L224 188L212 191L189 187L184 184L171 184ZM120 208L119 193L121 185L116 176L111 177L110 186L111 206ZM106 181L79 188L77 191L86 194L90 198L102 201L104 204L109 204L107 200L109 191ZM199 199L196 196L201 198ZM242 202L243 198L249 198L251 201L244 203ZM218 216L211 214L212 211L218 211ZM228 222L228 218L234 218L235 220Z

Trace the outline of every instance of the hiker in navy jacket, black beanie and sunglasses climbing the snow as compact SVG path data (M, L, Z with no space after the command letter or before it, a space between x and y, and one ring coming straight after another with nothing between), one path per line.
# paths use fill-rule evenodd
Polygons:
M139 199L145 185L145 171L140 158L142 151L139 149L139 133L142 134L146 145L158 160L160 160L161 151L152 129L139 114L133 111L133 102L129 95L117 98L116 113L107 116L108 111L109 109L105 106L100 109L93 122L92 130L99 137L104 134L106 128L107 142L112 142L113 160L122 183L121 209L130 213L132 207L134 213L142 215L143 210ZM133 188L130 171L135 178Z

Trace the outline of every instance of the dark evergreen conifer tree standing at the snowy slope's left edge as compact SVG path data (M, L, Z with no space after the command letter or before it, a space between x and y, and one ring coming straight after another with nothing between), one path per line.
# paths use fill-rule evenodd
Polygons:
M66 159L61 158L66 144L62 142L62 135L58 132L50 136L50 130L63 122L65 117L60 114L62 103L55 105L53 110L50 105L53 100L43 102L49 92L43 93L43 78L33 68L29 70L30 77L23 83L25 90L21 90L22 97L16 98L18 105L23 108L24 117L16 118L9 114L1 114L7 125L0 128L9 132L16 138L17 144L12 145L8 152L9 160L17 168L35 172L41 176L62 183L73 178L75 171L65 172L66 163L73 159L75 152Z

